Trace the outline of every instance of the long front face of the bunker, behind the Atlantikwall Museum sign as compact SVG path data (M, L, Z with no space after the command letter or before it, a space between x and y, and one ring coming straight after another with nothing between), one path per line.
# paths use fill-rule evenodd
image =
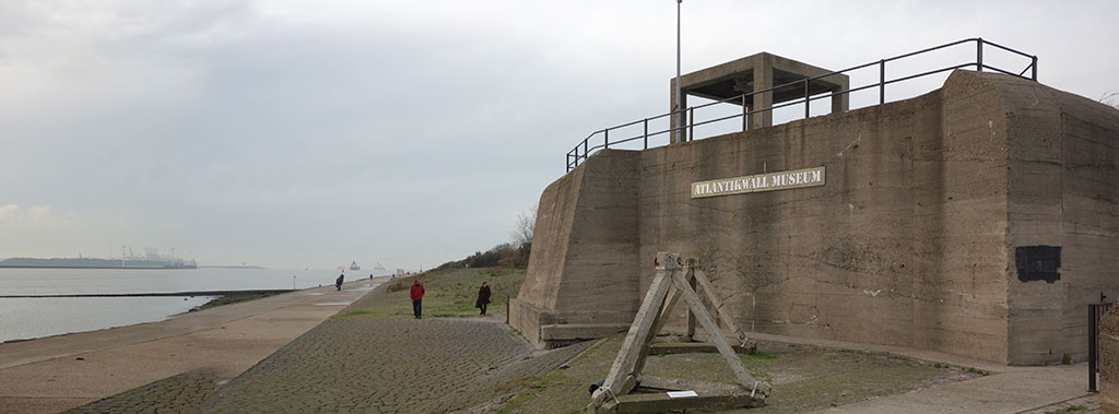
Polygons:
M955 79L910 101L645 151L641 256L700 257L746 331L1005 361L1005 134L987 122L1000 106L976 100L998 103ZM822 187L689 199L694 181L818 166ZM642 288L651 275L642 263Z

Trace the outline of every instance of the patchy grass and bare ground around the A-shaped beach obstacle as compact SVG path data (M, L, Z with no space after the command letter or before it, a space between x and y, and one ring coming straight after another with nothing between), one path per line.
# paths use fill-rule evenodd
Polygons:
M591 402L587 387L610 371L624 333L595 345L567 363L548 379L533 377L510 382L500 393L516 393L498 410L501 413L583 412ZM767 405L751 413L802 413L827 410L927 388L961 379L960 370L934 368L910 358L811 346L759 341L755 355L741 355L743 365L758 379L773 386ZM942 366L947 366L943 365ZM977 377L963 371L965 378ZM649 358L643 374L679 379L735 384L726 361L716 352L676 354ZM544 380L542 380L544 379Z

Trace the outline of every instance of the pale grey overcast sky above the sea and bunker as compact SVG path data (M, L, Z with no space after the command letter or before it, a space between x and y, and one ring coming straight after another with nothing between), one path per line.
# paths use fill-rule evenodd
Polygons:
M1099 98L1119 91L1117 16L688 0L683 69L759 51L839 69L984 37ZM462 258L509 241L589 133L666 112L675 70L671 0L0 0L0 258Z

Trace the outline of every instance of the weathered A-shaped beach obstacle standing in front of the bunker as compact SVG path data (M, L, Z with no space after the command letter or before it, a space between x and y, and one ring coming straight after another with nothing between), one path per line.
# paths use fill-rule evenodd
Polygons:
M717 313L724 323L728 324L739 340L745 345L745 333L739 329L731 316L723 310L718 298L714 294L711 282L704 272L698 269L694 258L688 258L687 265L681 266L680 256L676 253L657 253L657 269L646 292L641 308L638 309L633 324L630 326L626 341L610 367L610 374L602 386L591 396L591 404L587 412L621 412L621 411L665 411L677 408L698 407L727 407L727 406L760 406L770 394L770 386L764 382L755 379L745 367L742 359L734 352L731 344L723 336L715 319L707 312L699 295L694 290L697 282L707 299L715 304ZM694 333L692 321L698 321L707 332L709 341L730 365L735 379L741 387L717 386L711 383L685 382L677 379L653 378L642 376L646 357L657 333L667 322L669 312L676 305L676 301L684 298L688 304L688 320L690 336ZM667 394L630 394L638 386L649 386L657 389L680 389L699 388L692 397L674 398ZM706 388L706 389L704 389Z

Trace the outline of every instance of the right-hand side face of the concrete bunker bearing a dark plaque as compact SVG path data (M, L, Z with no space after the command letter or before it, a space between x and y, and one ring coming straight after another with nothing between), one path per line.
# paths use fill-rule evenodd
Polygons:
M1119 111L1032 82L1000 87L1009 135L1010 354L1019 364L1088 354L1087 304L1115 297Z

